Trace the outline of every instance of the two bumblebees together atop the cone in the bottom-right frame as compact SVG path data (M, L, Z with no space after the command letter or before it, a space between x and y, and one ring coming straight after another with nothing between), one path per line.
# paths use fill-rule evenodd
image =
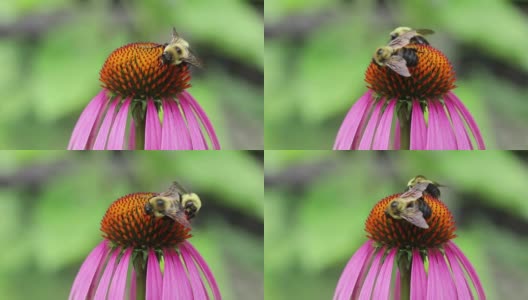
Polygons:
M407 184L407 190L396 199L389 202L385 209L387 218L405 220L419 228L428 229L427 219L431 217L432 209L424 200L424 195L440 197L442 186L425 176L418 175Z

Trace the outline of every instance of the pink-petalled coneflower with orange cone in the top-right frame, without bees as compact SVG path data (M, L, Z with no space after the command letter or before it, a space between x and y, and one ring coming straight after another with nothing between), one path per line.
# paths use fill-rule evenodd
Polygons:
M334 150L470 150L471 134L477 148L485 149L475 120L451 92L455 72L447 57L429 45L406 48L418 55L410 77L370 63L369 90L346 115Z

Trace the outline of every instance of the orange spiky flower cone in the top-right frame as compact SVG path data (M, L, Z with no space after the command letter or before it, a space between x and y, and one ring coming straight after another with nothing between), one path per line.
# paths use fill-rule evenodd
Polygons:
M455 88L455 72L447 57L429 45L410 44L416 49L418 63L404 77L386 66L371 62L365 73L367 87L387 98L435 98Z

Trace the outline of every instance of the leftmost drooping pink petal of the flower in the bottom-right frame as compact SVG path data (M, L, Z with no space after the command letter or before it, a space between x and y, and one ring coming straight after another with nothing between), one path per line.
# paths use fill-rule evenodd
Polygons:
M334 300L349 300L352 297L354 288L360 280L361 269L370 262L375 250L372 242L368 241L354 253L337 282Z

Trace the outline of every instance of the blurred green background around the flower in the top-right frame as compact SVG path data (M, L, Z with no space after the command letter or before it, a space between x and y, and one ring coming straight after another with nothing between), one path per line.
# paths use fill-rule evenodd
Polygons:
M268 0L266 149L331 149L398 26L430 28L489 149L528 149L528 1Z

